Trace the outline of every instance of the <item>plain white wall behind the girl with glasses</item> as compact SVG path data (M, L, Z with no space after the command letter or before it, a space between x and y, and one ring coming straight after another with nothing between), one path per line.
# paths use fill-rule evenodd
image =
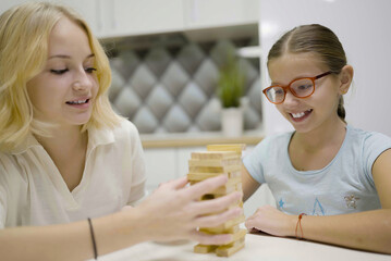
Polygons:
M339 36L355 70L353 88L345 96L347 122L391 136L390 10L389 0L260 0L261 87L268 84L265 63L272 44L296 25L320 23ZM261 99L266 133L292 129Z

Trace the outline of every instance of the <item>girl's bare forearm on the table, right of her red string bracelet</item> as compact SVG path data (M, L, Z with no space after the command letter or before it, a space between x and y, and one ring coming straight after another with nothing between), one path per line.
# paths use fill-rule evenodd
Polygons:
M297 216L295 216L297 221ZM391 253L391 210L302 219L305 239ZM292 235L292 229L290 231ZM297 232L301 235L301 232Z

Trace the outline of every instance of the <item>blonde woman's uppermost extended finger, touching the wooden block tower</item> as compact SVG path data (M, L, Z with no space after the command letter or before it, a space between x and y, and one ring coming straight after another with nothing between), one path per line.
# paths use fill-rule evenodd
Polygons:
M210 177L193 186L187 187L186 195L192 199L199 199L203 195L213 191L218 187L223 186L227 182L228 182L228 177L225 175Z

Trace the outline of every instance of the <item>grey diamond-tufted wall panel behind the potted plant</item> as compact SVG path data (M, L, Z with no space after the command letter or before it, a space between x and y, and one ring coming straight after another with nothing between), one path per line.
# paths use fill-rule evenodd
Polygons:
M110 58L110 101L142 134L218 132L219 67L237 47L237 41L220 40L188 42L174 51L163 46L143 51L121 49ZM261 123L259 61L241 58L240 64L246 77L244 128L256 129Z

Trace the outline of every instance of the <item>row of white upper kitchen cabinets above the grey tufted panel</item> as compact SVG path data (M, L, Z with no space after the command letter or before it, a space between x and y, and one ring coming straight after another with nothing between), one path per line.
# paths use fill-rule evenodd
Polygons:
M2 1L0 12L27 0ZM75 9L98 38L256 24L259 0L52 0Z

